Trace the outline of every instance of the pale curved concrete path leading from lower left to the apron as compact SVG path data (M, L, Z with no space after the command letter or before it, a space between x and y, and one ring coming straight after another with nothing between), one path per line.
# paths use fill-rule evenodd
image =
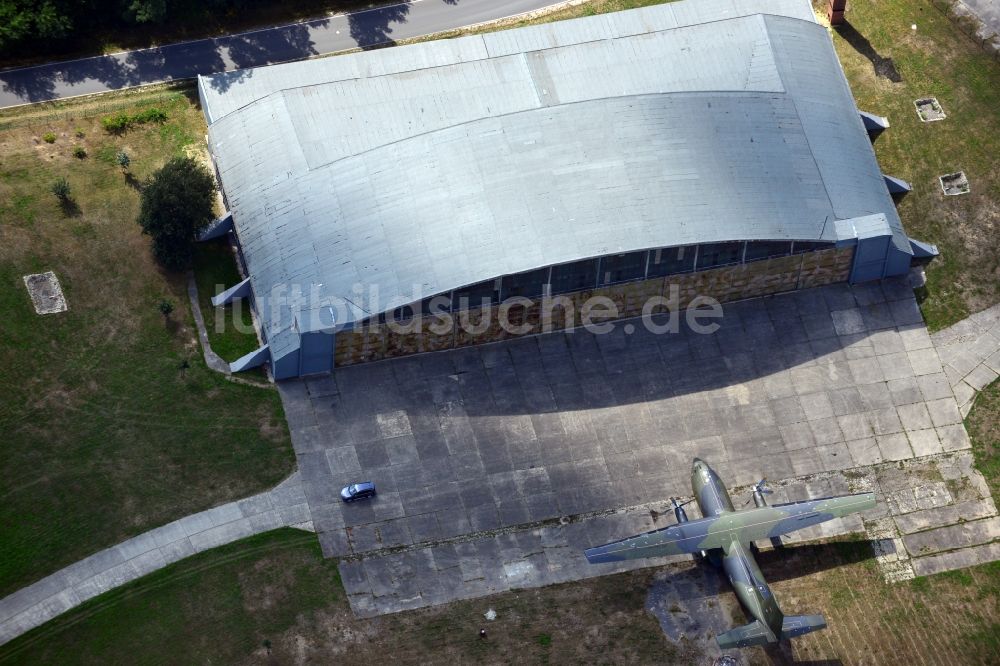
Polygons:
M279 527L312 529L298 472L268 492L140 534L0 600L0 645L180 559Z

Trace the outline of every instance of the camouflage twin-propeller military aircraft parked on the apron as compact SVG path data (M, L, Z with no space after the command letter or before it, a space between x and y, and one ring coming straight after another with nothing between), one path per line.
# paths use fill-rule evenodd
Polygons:
M768 506L764 480L754 486L755 507L735 511L726 486L704 461L694 459L691 485L694 499L704 518L688 520L684 505L674 503L677 524L639 534L585 551L591 564L618 562L641 557L660 557L679 553L700 553L721 565L729 576L736 596L754 617L754 621L716 637L719 647L749 647L777 643L783 638L801 636L823 629L822 615L785 616L778 608L771 589L753 558L753 542L771 539L804 527L840 518L875 506L874 493L826 497L804 502ZM749 501L747 502L749 504Z

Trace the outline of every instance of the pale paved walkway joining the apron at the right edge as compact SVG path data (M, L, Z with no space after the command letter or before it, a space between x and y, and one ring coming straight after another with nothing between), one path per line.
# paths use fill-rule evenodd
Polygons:
M1000 305L938 331L931 339L962 416L967 416L976 393L1000 376Z

